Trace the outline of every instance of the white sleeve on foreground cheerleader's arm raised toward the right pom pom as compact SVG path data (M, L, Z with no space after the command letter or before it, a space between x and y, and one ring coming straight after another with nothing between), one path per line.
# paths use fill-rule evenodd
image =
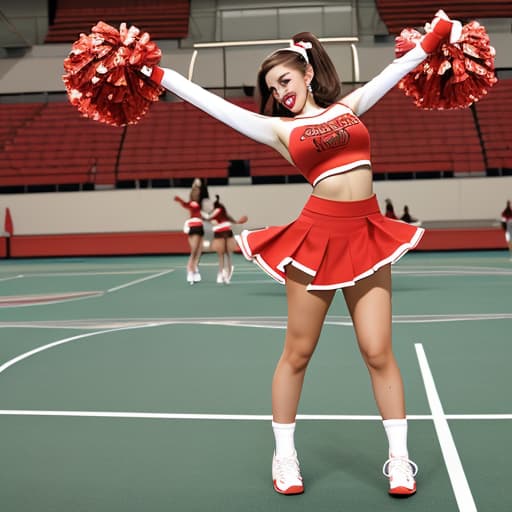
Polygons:
M407 73L410 73L418 64L421 64L427 53L417 44L402 57L395 59L385 67L376 77L372 78L363 87L351 92L343 101L352 108L357 116L364 114L390 89L392 89Z

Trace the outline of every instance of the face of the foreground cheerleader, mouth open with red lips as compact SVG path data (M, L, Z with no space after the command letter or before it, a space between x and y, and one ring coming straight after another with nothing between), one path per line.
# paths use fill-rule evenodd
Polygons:
M265 82L275 101L294 114L302 112L308 97L309 83L309 77L302 71L280 64L267 73Z

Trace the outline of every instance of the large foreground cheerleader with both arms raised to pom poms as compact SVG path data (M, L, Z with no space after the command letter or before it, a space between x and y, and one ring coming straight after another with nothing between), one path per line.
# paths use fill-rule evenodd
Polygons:
M468 48L452 44L464 36L465 27L440 11L427 28L421 37L403 39L397 47L399 57L343 98L336 69L319 40L309 32L295 35L289 47L272 52L261 64L257 78L259 114L206 91L174 70L149 64L148 59L155 59L156 53L153 47L145 45L147 37L137 43L142 50L135 45L135 53L130 57L132 67L148 62L136 71L143 75L145 84L155 86L155 94L159 87L168 89L247 137L270 146L295 165L311 184L311 196L294 222L245 230L237 237L245 257L286 287L287 329L272 381L272 481L274 489L282 494L304 491L294 443L295 420L306 368L336 290L344 295L383 420L388 441L383 472L388 477L388 492L405 496L416 492L417 466L407 448L404 388L392 350L390 265L416 246L423 229L389 219L380 212L373 192L370 137L360 116L408 76L407 90L423 91L417 100L434 84L446 85L448 90L455 87L461 92L469 91L474 101L485 92L485 87L492 85L490 68L494 62L485 31L471 29L471 55L487 52L488 69L481 72L475 65L471 70L465 69L466 63L471 63L469 56L453 66L453 73L459 78L464 75L463 82L442 79L438 76L440 62L444 63L444 71L448 69L444 50L453 47L458 55ZM473 37L475 31L477 37ZM78 42L78 49L82 46ZM95 46L92 48L96 51ZM432 59L438 54L444 60L438 58L432 71ZM80 70L83 53L76 51L73 58L76 63L71 64ZM428 65L421 68L425 63ZM473 78L467 80L470 75ZM77 101L87 111L91 106L89 97L82 101L78 85L74 85L82 83L79 78L84 83L90 81L85 74L69 80L70 96L78 97ZM109 87L118 83L113 81L114 76L96 78L100 89L106 88L102 99ZM423 89L412 91L410 86L417 85L416 82L421 82ZM84 85L85 90L90 86L87 84L90 82ZM423 106L458 99L458 94L430 92L429 101ZM104 104L99 104L99 108ZM142 115L146 107L141 105L130 119ZM446 108L446 104L441 106ZM106 122L110 112L107 114ZM103 113L93 111L91 115ZM405 121L403 136L407 137ZM189 270L194 270L193 265ZM347 384L340 389L348 389Z

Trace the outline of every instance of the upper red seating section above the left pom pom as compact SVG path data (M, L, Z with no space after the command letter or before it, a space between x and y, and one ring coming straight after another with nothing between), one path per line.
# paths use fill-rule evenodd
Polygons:
M45 42L71 43L100 20L116 28L121 22L135 25L154 40L182 39L188 36L189 17L189 0L89 0L78 7L73 0L57 0Z

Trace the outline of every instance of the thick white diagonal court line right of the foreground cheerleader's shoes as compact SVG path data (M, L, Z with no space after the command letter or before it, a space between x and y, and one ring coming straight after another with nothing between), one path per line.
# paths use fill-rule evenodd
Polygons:
M466 475L464 474L464 468L462 467L450 427L446 421L443 406L437 393L434 377L430 371L427 357L423 350L423 345L421 343L415 343L414 347L416 348L416 356L418 357L421 376L423 378L428 403L432 412L434 427L436 429L439 444L441 446L441 452L446 464L446 469L448 470L448 475L450 477L459 510L462 512L476 512L477 509L475 501L471 494L471 489L469 488Z

